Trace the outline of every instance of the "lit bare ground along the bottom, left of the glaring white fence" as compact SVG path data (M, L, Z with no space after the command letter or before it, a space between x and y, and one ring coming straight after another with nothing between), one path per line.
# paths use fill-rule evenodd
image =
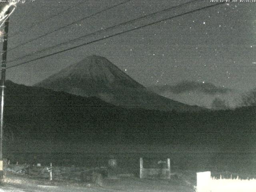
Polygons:
M188 175L188 173L175 174L170 180L129 176L101 178L96 183L82 183L34 179L27 175L8 172L5 175L5 182L0 186L0 192L193 192L195 180Z

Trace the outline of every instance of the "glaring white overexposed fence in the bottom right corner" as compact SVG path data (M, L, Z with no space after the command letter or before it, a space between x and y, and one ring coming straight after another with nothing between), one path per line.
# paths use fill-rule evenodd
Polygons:
M237 178L223 179L211 177L211 172L198 172L196 189L197 192L255 192L256 180L242 180Z

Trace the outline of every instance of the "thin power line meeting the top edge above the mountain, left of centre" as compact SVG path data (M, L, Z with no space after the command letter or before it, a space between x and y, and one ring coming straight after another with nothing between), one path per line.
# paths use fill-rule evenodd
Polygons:
M85 19L90 18L90 17L92 17L92 16L95 16L95 15L97 15L97 14L100 14L100 13L102 13L102 12L105 12L105 11L107 11L107 10L110 10L110 9L112 9L112 8L114 8L114 7L117 7L117 6L119 6L119 5L125 4L125 3L129 2L129 1L131 1L131 0L126 0L126 1L124 1L124 2L122 2L122 3L116 4L116 5L111 6L111 7L109 7L109 8L105 8L105 9L99 11L99 12L96 12L96 13L94 13L94 14L91 14L91 15L89 15L89 16L86 16L86 17L84 17L84 18L82 18L82 19L76 20L76 21L74 21L74 22L72 22L72 23L70 23L70 24L67 24L67 25L65 25L65 26L62 26L62 27L60 27L60 28L58 28L58 29L56 29L56 30L53 30L53 31L48 32L48 33L46 33L46 34L43 34L43 35L41 35L41 36L39 36L39 37L37 37L37 38L31 39L31 40L29 40L28 42L24 42L24 43L22 43L22 44L19 44L19 45L13 47L13 48L10 48L9 51L14 50L15 48L18 48L19 46L28 44L28 43L30 43L30 42L32 42L32 41L34 41L34 40L37 40L37 39L39 39L39 38L42 38L42 37L44 37L44 36L47 36L47 35L49 35L49 34L52 34L52 33L56 32L56 31L58 31L58 30L61 30L61 29L63 29L63 28L66 28L66 27L68 27L68 26L70 26L70 25L73 25L73 24L75 24L75 23L77 23L77 22L80 22L80 21L82 21L82 20L85 20Z

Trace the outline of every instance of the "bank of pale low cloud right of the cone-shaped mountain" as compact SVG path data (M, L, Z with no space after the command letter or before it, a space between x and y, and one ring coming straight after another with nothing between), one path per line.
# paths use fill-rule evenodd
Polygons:
M240 91L218 87L211 83L183 81L176 85L152 86L149 89L161 96L184 104L214 110L225 110L246 105L241 104L242 93Z

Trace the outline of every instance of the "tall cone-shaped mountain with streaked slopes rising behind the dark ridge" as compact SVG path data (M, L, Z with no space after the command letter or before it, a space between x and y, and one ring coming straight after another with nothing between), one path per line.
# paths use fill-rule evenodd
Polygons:
M188 106L148 91L106 58L89 56L34 86L80 96L96 96L105 102L127 108L194 111Z

